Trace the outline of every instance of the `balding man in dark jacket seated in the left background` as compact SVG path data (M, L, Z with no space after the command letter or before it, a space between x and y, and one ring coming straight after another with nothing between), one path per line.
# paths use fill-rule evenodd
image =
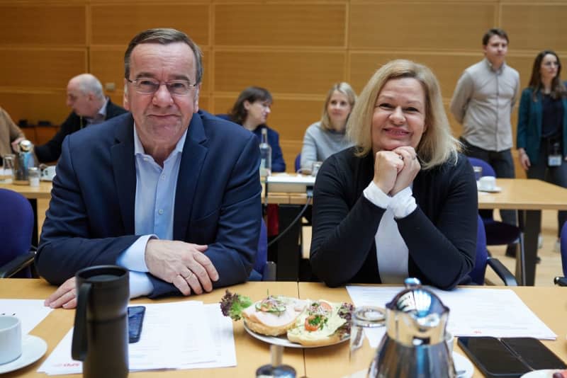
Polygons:
M73 111L67 120L64 120L57 134L46 144L35 146L35 155L42 163L59 159L63 139L67 135L127 113L104 96L101 82L91 74L80 74L69 80L67 106Z

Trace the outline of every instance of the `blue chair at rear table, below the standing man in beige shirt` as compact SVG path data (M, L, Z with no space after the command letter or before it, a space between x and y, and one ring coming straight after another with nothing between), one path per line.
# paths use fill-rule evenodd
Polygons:
M469 157L468 161L472 166L481 166L483 168L483 176L496 176L494 168L486 161L472 157ZM520 239L520 228L512 224L495 221L493 218L493 210L479 210L478 214L480 214L483 219L487 246L513 244L517 239ZM520 248L523 248L523 246L520 245Z

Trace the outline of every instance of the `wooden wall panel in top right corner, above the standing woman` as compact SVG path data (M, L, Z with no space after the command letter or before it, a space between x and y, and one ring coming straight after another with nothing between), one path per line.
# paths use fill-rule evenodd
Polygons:
M567 50L567 4L504 4L502 27L510 48Z

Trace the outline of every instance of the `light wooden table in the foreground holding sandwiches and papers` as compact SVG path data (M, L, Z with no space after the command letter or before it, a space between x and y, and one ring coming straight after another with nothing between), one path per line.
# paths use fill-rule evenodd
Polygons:
M491 287L494 288L494 287ZM497 287L503 288L503 287ZM484 290L485 287L476 287L475 290ZM522 299L541 321L544 321L554 333L558 335L557 340L543 340L551 350L567 360L567 296L561 287L512 287L512 290ZM0 298L2 299L44 299L55 290L41 279L5 279L0 280ZM225 289L213 290L213 292L198 297L173 297L158 300L147 298L133 299L131 304L145 303L167 303L198 299L204 303L216 303L223 296ZM266 290L271 294L282 294L301 299L327 299L332 302L350 302L349 294L344 287L329 288L318 282L247 282L242 285L230 287L232 292L245 294L253 300L265 297ZM548 299L548 300L546 300ZM553 299L553 300L551 300ZM220 309L219 309L220 311ZM450 316L450 315L449 315ZM45 377L38 373L38 367L50 355L57 343L72 327L74 321L74 310L55 309L41 323L36 326L30 334L39 336L47 342L47 353L37 362L24 367L21 370L7 373L4 377ZM237 355L237 366L206 370L160 370L131 372L133 377L254 377L257 367L269 363L269 345L249 336L242 321L233 322L235 349ZM352 372L364 370L374 356L372 350L364 342L362 355L364 356L359 365L349 364L349 343L339 343L324 348L300 349L284 348L283 363L291 365L296 369L297 377L345 377ZM454 345L457 353L464 353L459 346ZM67 377L81 377L80 374L67 375ZM475 368L473 377L482 377Z

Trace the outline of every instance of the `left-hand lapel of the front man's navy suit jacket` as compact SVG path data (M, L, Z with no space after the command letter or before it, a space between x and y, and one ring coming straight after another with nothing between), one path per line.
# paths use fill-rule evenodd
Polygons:
M114 173L114 183L120 215L127 235L134 234L134 206L136 193L136 165L134 157L134 120L132 115L118 125L115 131L115 141L111 147L111 164Z

